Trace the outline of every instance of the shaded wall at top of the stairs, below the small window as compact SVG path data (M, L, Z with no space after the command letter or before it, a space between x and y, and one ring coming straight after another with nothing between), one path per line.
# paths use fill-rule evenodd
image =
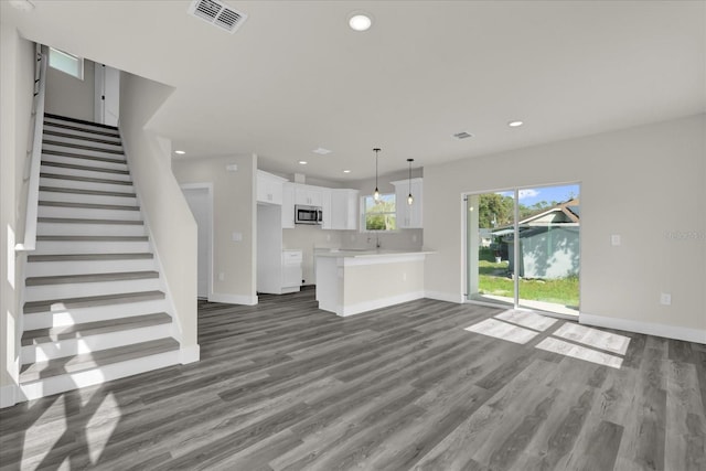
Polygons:
M93 61L84 60L83 81L46 67L46 113L94 121L95 67Z

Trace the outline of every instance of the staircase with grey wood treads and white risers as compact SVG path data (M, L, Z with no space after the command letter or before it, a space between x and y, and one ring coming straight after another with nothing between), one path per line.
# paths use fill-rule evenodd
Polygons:
M117 128L44 115L36 234L24 287L25 399L180 363Z

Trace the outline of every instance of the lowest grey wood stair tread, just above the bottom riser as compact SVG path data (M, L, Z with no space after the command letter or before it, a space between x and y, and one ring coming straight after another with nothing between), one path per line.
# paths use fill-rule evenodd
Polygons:
M24 365L20 372L20 383L26 384L52 376L88 371L109 364L178 350L179 342L172 338L165 338L81 355L53 358L49 362Z

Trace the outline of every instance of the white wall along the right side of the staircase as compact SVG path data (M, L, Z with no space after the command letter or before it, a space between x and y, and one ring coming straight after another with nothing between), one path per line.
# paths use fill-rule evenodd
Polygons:
M122 73L120 132L151 242L161 263L180 330L182 353L199 358L196 343L196 223L171 172L169 142L149 132L149 120L172 88Z

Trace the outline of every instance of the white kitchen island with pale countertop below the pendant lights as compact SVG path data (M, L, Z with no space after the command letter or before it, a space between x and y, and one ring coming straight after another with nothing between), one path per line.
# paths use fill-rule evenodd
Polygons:
M424 298L430 251L331 250L317 254L319 309L352 315Z

